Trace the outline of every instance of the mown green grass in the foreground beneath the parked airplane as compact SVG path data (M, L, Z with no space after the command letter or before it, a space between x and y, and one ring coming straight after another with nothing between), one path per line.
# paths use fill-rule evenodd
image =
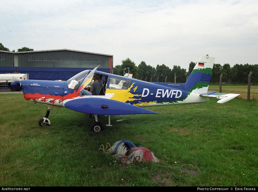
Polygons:
M257 186L258 103L211 99L200 106L148 108L100 133L92 119L52 109L22 94L0 95L0 186ZM100 116L103 124L108 117ZM148 148L159 163L120 165L101 144L128 140Z

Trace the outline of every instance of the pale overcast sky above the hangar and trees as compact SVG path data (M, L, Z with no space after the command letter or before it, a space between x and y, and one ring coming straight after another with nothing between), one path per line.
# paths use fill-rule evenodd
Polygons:
M0 42L10 51L72 49L188 71L200 56L258 64L257 0L1 1Z

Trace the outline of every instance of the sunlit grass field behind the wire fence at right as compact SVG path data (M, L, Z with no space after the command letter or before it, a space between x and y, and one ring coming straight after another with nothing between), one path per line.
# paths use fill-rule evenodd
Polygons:
M208 91L220 92L219 84L210 84ZM222 84L222 93L236 93L240 94L237 99L247 100L247 85L238 84ZM251 85L250 100L258 101L258 86Z

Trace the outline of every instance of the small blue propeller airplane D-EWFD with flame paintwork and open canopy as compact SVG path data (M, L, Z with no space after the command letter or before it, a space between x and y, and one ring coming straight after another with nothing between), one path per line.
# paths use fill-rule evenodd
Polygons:
M200 57L185 84L145 82L132 78L132 75L119 76L93 70L86 70L67 81L23 80L11 84L22 89L28 101L48 106L46 116L39 120L40 126L50 125L48 119L52 108L69 108L90 114L95 118L91 130L99 132L104 126L98 121L99 115L158 114L144 107L174 104L195 104L209 101L209 97L220 99L217 103L227 102L239 94L208 92L212 77L214 57ZM92 83L99 74L101 90L98 95L81 95L80 91ZM131 117L133 118L133 117ZM127 118L130 119L130 118ZM121 121L125 119L119 119Z

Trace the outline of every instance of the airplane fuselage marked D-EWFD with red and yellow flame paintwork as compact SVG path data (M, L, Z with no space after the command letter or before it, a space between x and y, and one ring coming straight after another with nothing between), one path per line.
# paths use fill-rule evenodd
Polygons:
M105 95L82 96L76 92L77 89L69 89L67 81L23 80L21 85L24 98L53 107L65 107L67 101L92 97L112 99L138 107L200 103L209 100L199 97L199 94L190 95L185 90L184 84L150 83L99 71L95 73L106 76ZM115 80L122 81L124 84L126 82L127 86L115 84Z

